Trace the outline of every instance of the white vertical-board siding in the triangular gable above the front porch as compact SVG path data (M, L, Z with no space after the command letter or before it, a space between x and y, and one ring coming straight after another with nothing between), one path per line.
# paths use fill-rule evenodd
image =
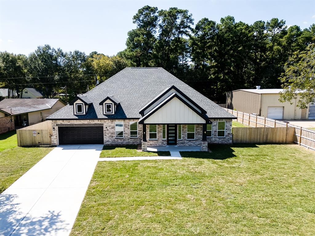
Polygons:
M145 124L201 124L206 121L178 98L173 98L154 114Z

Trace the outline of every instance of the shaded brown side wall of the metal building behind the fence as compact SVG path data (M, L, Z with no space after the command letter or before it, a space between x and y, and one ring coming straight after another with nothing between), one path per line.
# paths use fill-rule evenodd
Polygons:
M226 108L260 115L261 94L242 90L226 93Z

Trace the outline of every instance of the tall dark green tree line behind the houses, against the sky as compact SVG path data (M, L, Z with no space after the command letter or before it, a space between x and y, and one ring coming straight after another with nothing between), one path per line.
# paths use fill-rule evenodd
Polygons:
M85 93L126 66L163 67L206 97L225 102L239 88L279 88L288 59L315 41L315 24L301 29L284 20L252 25L226 16L203 18L194 25L185 9L144 6L133 17L126 49L116 56L64 52L49 45L30 55L0 52L0 87L18 93L35 87L52 97L67 85L68 93ZM25 85L24 85L25 84Z

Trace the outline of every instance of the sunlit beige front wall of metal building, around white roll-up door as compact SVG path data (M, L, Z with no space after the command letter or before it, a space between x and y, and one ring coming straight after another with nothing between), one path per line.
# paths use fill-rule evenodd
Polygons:
M293 99L293 104L291 105L289 102L280 102L280 95L278 93L267 93L262 94L261 98L261 116L268 117L268 107L284 107L283 109L283 119L293 120L293 119L301 119L302 118L302 109L296 106L299 97ZM237 109L236 109L237 110ZM303 110L304 119L308 118L308 108Z

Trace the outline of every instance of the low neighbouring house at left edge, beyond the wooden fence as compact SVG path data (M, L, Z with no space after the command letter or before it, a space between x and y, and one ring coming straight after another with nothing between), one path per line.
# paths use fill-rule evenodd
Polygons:
M65 105L53 98L6 98L0 101L0 133L45 121Z

